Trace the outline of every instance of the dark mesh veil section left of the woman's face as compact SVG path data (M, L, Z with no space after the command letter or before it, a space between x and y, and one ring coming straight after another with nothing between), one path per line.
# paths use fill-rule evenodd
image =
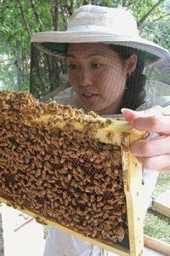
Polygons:
M66 81L64 58L48 55L46 52L37 49L35 44L31 44L31 92L41 98Z

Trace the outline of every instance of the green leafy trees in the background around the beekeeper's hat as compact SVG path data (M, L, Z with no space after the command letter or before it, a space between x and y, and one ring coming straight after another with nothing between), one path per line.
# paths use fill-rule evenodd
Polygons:
M83 4L130 9L141 35L170 49L169 0L0 0L0 90L31 90L40 97L59 86L30 88L31 35L65 30L73 11Z

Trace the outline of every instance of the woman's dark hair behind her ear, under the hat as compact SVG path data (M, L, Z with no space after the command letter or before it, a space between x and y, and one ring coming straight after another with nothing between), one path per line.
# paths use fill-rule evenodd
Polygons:
M122 103L118 109L118 113L120 113L121 108L131 108L135 110L144 103L146 94L146 78L143 73L144 61L140 59L138 49L116 44L110 44L110 48L116 51L122 60L126 60L133 54L138 56L137 66L134 72L129 77L127 77L126 90L124 91Z

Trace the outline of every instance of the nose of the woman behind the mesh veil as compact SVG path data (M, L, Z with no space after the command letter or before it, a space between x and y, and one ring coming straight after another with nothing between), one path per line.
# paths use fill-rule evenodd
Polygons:
M92 73L88 67L80 67L78 77L80 86L88 86L93 84Z

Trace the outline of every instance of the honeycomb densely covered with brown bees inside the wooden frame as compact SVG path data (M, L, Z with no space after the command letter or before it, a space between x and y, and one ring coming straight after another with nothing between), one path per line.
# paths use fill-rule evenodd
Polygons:
M122 241L127 208L121 147L95 137L113 122L38 102L28 92L1 92L1 198L83 236Z

